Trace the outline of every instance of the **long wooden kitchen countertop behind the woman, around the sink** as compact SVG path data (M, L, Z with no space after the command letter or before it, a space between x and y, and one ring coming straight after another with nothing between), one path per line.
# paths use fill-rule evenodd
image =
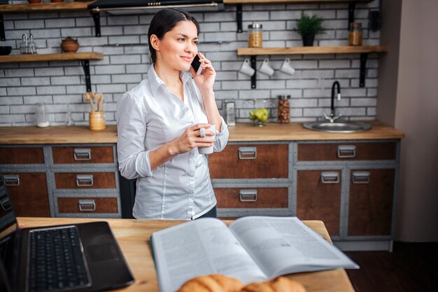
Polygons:
M404 134L378 120L366 122L372 129L358 133L326 133L304 129L303 123L267 123L254 127L239 123L229 127L229 141L305 141L305 140L365 140L402 139ZM87 126L0 127L0 144L92 144L116 143L117 126L92 131Z

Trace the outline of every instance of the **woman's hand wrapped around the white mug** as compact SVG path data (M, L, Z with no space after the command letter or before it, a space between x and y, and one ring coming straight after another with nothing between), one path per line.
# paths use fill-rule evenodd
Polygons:
M176 154L188 152L196 147L213 146L215 139L210 139L208 137L199 137L201 135L201 131L199 129L207 129L209 127L209 124L197 124L185 129L180 137L178 137L174 141L171 141L171 144L173 144ZM205 135L214 136L215 133L211 132L210 130L206 130Z

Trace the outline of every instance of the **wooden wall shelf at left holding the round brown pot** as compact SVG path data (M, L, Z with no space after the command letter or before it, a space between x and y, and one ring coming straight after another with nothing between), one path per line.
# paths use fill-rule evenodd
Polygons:
M36 55L8 55L0 56L0 63L12 62L42 62L42 61L68 61L68 60L102 60L102 53L61 53L61 54L36 54Z

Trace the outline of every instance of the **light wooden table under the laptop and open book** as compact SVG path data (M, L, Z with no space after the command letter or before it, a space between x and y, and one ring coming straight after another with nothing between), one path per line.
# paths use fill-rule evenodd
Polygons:
M17 218L22 228L71 224L91 221L107 221L136 279L135 284L118 289L123 292L158 292L157 274L150 253L150 235L163 228L186 221L157 221L135 219L90 219L90 218ZM229 224L232 221L225 221ZM331 242L323 221L304 221L306 225ZM344 269L323 272L303 272L288 275L290 279L300 281L307 292L354 292L353 286Z

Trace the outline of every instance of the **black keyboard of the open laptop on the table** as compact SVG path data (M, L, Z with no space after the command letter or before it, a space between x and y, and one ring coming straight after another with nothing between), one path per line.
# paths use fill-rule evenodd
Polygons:
M32 230L29 240L29 292L59 291L90 285L75 226Z

